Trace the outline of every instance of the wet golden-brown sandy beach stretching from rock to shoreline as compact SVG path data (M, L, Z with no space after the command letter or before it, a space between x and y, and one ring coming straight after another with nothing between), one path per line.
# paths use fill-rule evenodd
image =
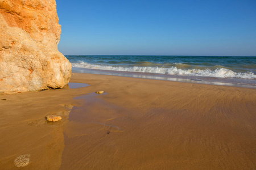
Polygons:
M25 154L22 169L256 169L255 89L82 73L71 82L90 86L0 95L0 169Z

